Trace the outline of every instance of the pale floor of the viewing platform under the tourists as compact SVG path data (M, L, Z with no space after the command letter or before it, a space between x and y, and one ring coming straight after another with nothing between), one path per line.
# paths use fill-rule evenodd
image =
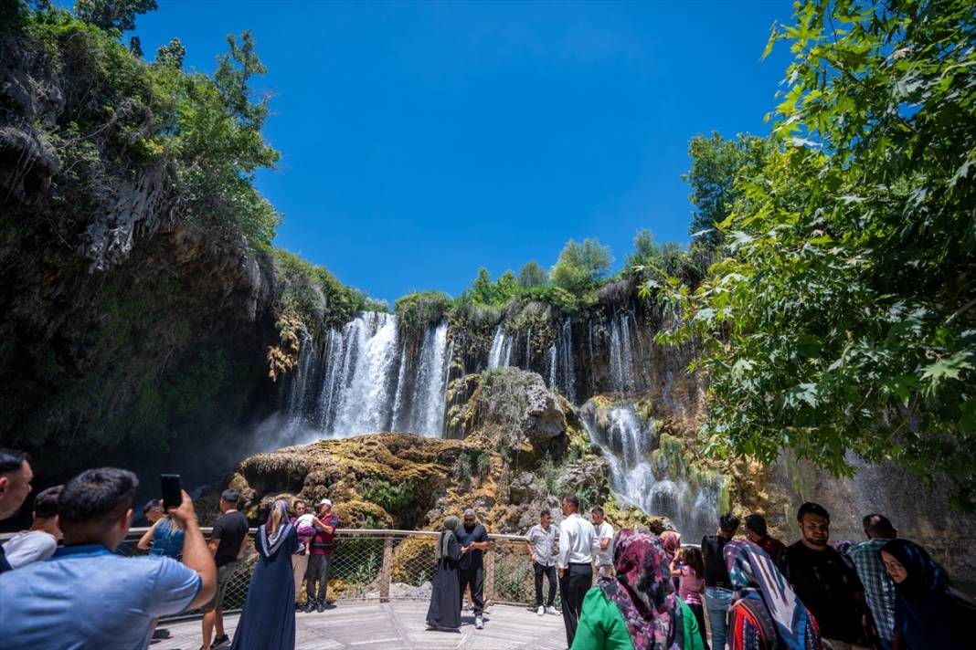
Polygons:
M298 650L563 650L566 632L562 617L538 616L526 607L492 605L484 614L484 630L474 629L474 616L462 615L461 632L427 631L427 602L339 601L321 614L295 615ZM233 638L237 614L224 615L227 634ZM200 621L162 621L150 650L197 650Z

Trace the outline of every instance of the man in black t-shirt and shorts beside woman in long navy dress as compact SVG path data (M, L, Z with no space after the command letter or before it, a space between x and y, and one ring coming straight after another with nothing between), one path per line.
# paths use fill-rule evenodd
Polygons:
M210 650L230 642L224 633L224 593L237 569L237 559L244 554L248 531L247 517L237 511L239 501L240 493L237 490L224 490L221 494L221 512L224 514L217 519L214 531L210 533L210 552L214 554L217 564L217 593L214 593L213 600L202 607L203 646L200 650ZM211 634L215 628L217 636L211 645Z

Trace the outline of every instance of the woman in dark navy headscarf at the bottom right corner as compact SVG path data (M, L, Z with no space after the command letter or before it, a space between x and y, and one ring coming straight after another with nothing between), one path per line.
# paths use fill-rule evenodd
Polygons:
M895 583L895 650L972 647L965 622L976 612L949 591L945 571L924 549L891 540L878 554Z

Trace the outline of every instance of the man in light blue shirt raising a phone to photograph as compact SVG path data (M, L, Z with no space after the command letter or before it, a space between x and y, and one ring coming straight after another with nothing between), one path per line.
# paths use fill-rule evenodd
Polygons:
M64 485L58 515L65 546L46 561L0 574L5 648L143 650L154 618L210 600L214 558L186 492L170 510L186 531L183 564L113 554L129 532L138 485L132 472L115 468L88 470Z

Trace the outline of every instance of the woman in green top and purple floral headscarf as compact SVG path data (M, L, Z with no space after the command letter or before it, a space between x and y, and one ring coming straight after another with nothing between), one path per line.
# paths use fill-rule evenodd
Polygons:
M613 578L583 600L572 650L702 650L698 622L674 594L664 546L647 530L614 539Z

